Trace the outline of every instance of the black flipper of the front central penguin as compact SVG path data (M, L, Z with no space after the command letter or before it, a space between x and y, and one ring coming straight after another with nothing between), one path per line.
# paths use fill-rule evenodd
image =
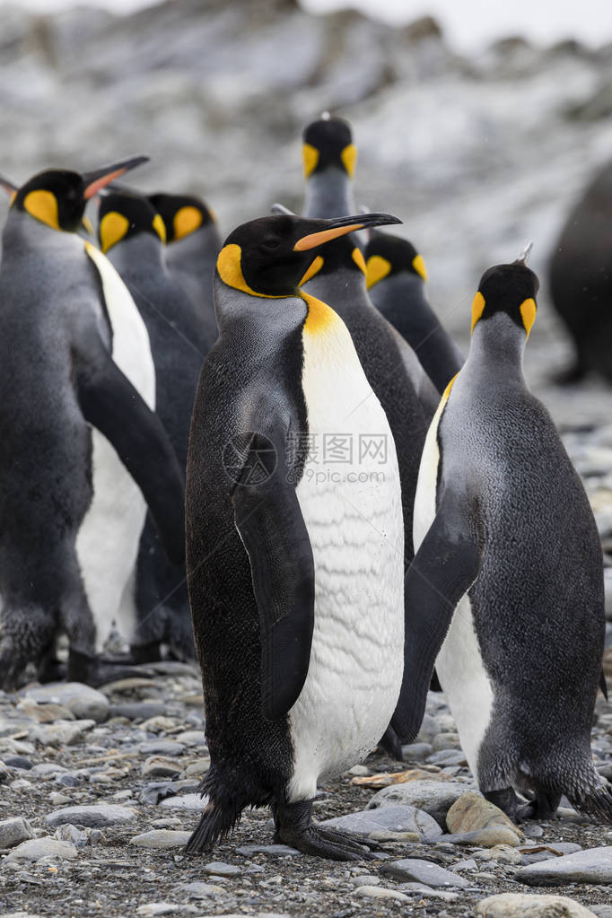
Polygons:
M315 562L285 458L286 426L251 419L232 493L261 627L261 707L284 717L304 687L315 624Z

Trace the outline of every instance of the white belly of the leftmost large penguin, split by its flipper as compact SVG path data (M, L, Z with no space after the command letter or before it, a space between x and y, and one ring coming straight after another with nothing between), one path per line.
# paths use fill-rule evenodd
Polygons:
M149 334L128 288L102 252L91 244L113 329L113 360L150 409L155 408L155 369ZM129 640L136 609L133 571L147 507L142 493L104 434L92 430L94 495L76 540L87 599L101 650L112 622Z

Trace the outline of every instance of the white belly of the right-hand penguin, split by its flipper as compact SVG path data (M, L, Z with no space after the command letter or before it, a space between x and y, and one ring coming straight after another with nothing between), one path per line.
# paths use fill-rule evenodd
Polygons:
M447 400L448 397L442 397L431 421L418 470L413 524L415 554L436 516L440 464L438 425ZM467 593L452 617L451 627L436 660L436 671L457 724L462 750L474 778L478 779L478 753L491 720L493 689L484 669L473 626L472 604Z

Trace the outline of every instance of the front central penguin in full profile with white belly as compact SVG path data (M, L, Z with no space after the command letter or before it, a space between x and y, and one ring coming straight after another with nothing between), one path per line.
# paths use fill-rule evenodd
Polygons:
M349 331L299 283L329 241L393 219L261 218L219 253L220 336L200 376L186 479L211 756L188 851L228 834L245 807L272 805L278 840L368 856L312 823L311 809L317 779L370 751L395 709L400 481Z

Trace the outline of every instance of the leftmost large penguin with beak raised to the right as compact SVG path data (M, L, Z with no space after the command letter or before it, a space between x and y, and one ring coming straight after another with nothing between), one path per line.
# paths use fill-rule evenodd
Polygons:
M115 269L76 235L86 201L143 159L89 174L38 174L15 193L6 220L0 266L5 687L28 661L44 669L62 630L70 640L69 676L92 678L94 607L118 605L133 569L145 513L140 491L169 553L177 561L183 554L182 476L137 387L153 381L146 330ZM134 365L139 353L143 363ZM130 480L132 492L125 490L122 471L138 488Z

